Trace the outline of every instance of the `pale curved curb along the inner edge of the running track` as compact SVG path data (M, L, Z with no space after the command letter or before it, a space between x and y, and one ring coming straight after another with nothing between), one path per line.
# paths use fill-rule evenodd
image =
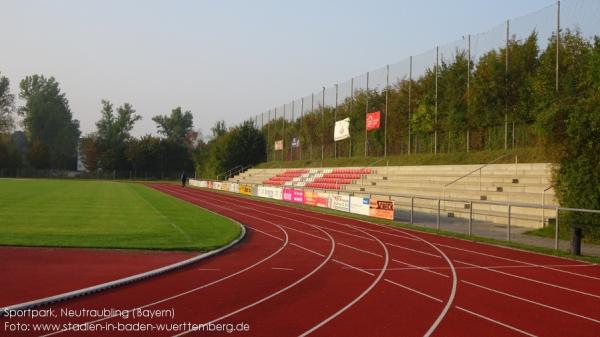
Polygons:
M216 214L215 212L212 212L210 210L206 210L206 211ZM222 215L220 215L220 216L222 216ZM200 254L198 256L194 256L187 260L183 260L183 261L180 261L180 262L168 265L168 266L153 269L153 270L150 270L147 272L128 276L128 277L121 278L118 280L101 283L101 284L98 284L95 286L78 289L78 290L74 290L74 291L70 291L70 292L66 292L66 293L62 293L62 294L58 294L58 295L54 295L54 296L44 297L44 298L40 298L40 299L33 300L33 301L28 301L28 302L23 302L23 303L18 303L18 304L13 304L13 305L9 305L6 307L2 307L2 308L0 308L0 317L6 317L7 313L9 311L32 309L32 308L36 308L36 307L40 307L40 306L44 306L44 305L48 305L48 304L52 304L52 303L66 301L66 300L81 297L81 296L91 295L94 293L98 293L98 292L116 288L116 287L121 287L121 286L128 285L131 283L143 281L143 280L146 280L151 277L166 274L166 273L172 272L174 270L187 267L198 261L202 261L211 256L220 254L220 253L226 251L227 249L237 245L246 237L246 227L238 221L235 221L233 219L231 219L231 220L240 226L240 230L241 230L240 235L235 240L233 240L232 242L228 243L227 245L225 245L221 248L211 250L210 252L206 252L204 254Z

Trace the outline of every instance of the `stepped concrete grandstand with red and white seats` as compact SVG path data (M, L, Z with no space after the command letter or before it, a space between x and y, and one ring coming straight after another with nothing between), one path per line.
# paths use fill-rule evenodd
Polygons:
M396 201L396 209L441 213L495 224L537 228L557 206L550 187L551 166L535 164L429 165L372 168L250 169L230 181L311 189L338 190L356 196L375 196ZM392 196L390 196L392 195Z

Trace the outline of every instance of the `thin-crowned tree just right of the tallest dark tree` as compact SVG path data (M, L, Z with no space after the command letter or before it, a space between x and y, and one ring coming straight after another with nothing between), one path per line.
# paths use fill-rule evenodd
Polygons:
M129 103L118 107L115 114L113 104L108 100L102 100L101 114L102 117L96 122L99 165L103 169L128 169L126 143L131 137L129 132L142 116L136 115Z

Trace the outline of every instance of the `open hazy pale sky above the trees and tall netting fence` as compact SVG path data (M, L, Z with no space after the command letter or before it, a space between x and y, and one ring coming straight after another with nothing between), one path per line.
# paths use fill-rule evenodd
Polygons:
M54 76L83 133L100 100L133 104L134 135L181 106L209 134L552 4L550 0L0 0L0 72L17 94Z

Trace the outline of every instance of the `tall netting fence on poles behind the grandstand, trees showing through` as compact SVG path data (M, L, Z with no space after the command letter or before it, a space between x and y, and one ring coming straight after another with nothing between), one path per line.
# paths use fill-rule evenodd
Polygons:
M575 85L561 82L570 69L571 42L593 45L599 17L598 1L557 2L253 120L267 139L269 161L532 146L539 101L553 99L536 92ZM367 132L367 114L377 111L379 127ZM351 137L334 142L335 122L346 117Z

